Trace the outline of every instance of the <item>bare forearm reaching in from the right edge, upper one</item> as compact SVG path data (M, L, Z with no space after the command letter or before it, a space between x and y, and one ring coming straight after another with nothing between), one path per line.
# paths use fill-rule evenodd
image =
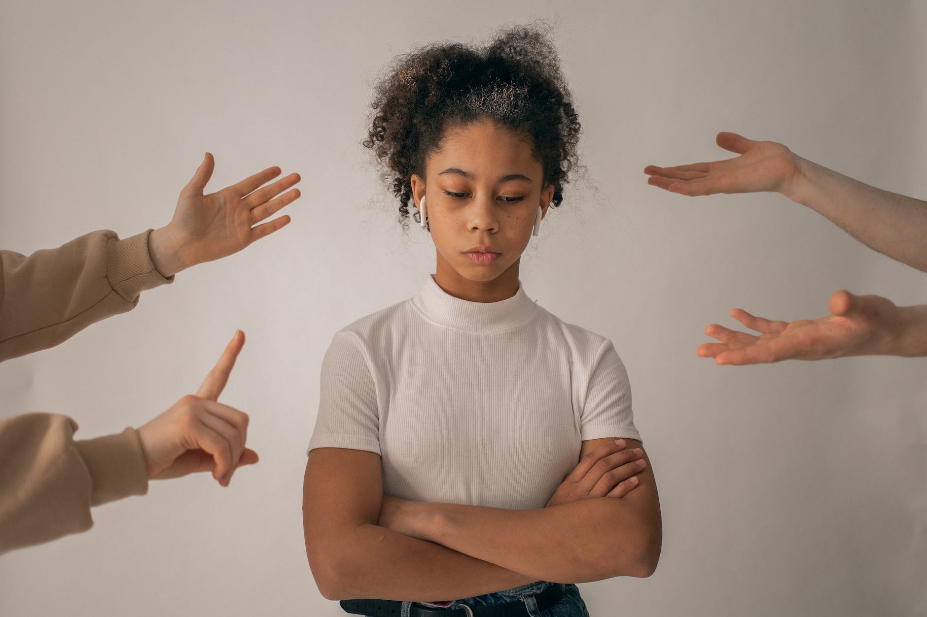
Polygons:
M927 271L927 202L877 189L796 158L784 194L831 220L864 245Z

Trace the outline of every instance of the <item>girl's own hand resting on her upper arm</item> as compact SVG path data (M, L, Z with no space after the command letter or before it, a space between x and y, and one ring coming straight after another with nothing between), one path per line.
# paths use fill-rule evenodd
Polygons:
M643 450L625 450L624 439L597 447L579 461L557 487L547 506L556 506L586 497L624 497L638 485L634 477L644 470Z

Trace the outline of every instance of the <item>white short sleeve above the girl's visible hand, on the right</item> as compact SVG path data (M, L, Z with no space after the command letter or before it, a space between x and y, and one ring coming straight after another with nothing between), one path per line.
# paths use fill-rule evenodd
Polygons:
M579 432L584 441L603 437L641 440L631 411L628 371L609 340L599 347L592 363Z

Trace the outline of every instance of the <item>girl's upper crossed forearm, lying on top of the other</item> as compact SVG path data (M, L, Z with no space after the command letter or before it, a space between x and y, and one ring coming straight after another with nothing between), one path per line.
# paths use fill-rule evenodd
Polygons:
M659 507L648 503L590 497L540 510L415 507L421 510L411 517L418 522L412 523L417 527L413 535L533 579L582 583L649 576L659 559Z

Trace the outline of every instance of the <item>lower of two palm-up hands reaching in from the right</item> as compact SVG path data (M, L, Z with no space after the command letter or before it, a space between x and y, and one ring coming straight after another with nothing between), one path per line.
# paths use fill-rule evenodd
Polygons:
M759 335L713 323L705 334L720 343L696 350L716 364L760 364L784 359L831 359L890 353L898 308L882 296L854 296L841 290L831 296L831 314L817 320L769 321L741 308L730 316Z

